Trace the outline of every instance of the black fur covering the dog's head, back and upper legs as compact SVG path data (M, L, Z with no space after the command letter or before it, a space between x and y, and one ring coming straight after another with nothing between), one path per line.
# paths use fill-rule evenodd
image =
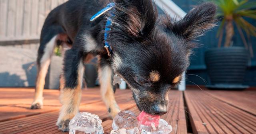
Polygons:
M100 55L100 67L112 65L114 72L126 80L140 110L162 114L168 105L166 93L177 84L173 79L189 65L188 57L194 47L192 40L214 26L216 6L202 4L182 20L175 21L168 14L158 16L151 0L115 0L115 10L111 10L115 16L108 38L113 55L108 57L103 48L106 18L100 17L93 23L90 18L109 2L69 0L54 9L42 30L38 58L42 57L45 42L58 33L66 33L73 42L64 58L66 87L76 87L78 64L88 53ZM88 45L86 35L95 40L96 49L85 49ZM114 65L115 57L121 59L118 66ZM150 81L151 71L159 73L158 81ZM159 106L165 109L159 109Z

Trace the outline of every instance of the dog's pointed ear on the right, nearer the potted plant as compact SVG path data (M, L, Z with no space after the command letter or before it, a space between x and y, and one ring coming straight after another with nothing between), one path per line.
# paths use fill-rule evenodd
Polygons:
M186 14L179 21L168 24L168 27L176 35L191 41L196 37L204 34L204 32L215 26L216 5L210 2L203 3Z

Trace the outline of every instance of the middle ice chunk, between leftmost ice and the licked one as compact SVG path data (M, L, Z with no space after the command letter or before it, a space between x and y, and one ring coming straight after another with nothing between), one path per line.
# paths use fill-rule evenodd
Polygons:
M128 110L119 112L113 119L112 128L118 130L120 128L138 127L138 120L136 115Z

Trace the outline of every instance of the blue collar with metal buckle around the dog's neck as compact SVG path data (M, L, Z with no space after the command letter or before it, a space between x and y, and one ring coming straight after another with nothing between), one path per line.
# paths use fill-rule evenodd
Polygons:
M108 4L105 8L103 8L102 10L100 10L99 12L97 12L94 16L92 16L92 18L90 19L91 22L93 22L94 20L96 20L98 17L100 17L102 14L105 14L106 12L108 12L109 10L111 10L113 7L115 6L114 3L110 3ZM111 16L114 16L114 14L110 13ZM109 45L107 39L108 39L108 33L111 30L111 26L112 26L112 21L111 18L108 17L108 20L106 22L106 26L105 26L105 33L104 33L104 40L105 40L105 46L104 48L106 49L106 51L108 52L108 56L110 56L112 54L112 48Z

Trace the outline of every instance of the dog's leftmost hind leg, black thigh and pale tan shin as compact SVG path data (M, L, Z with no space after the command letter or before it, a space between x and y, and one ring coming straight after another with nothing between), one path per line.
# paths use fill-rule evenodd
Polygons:
M54 48L57 44L57 37L59 33L65 33L63 28L59 25L52 25L52 20L46 19L42 28L40 37L40 46L38 48L37 56L37 76L36 76L36 90L34 101L31 109L40 109L43 106L43 90L45 84L45 77L50 65L50 60L54 54Z

